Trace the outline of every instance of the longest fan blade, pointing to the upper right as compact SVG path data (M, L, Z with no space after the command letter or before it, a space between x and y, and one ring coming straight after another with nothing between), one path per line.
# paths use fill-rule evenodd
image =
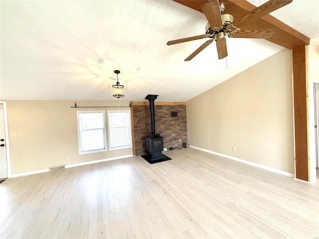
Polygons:
M291 3L292 1L293 0L269 0L266 3L260 5L259 7L256 7L252 11L247 12L245 15L237 18L230 24L240 28L240 26L244 23L260 18L268 14L269 12L272 12L282 6Z

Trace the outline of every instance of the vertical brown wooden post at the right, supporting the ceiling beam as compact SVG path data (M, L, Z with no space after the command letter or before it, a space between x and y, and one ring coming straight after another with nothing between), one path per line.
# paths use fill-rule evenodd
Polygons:
M293 49L296 178L310 181L308 134L308 45Z

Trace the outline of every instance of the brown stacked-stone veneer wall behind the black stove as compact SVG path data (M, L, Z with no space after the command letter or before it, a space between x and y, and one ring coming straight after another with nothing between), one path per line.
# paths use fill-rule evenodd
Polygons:
M154 110L155 128L159 130L160 136L164 137L164 147L182 146L182 142L187 141L186 106L155 105ZM177 117L171 117L172 111L177 112ZM150 107L133 106L133 113L136 155L147 154L145 137L151 133Z

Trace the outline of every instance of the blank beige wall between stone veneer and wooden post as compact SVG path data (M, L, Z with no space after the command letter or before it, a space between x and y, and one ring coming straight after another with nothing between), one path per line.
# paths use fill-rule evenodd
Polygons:
M291 55L284 49L188 101L188 142L294 173Z

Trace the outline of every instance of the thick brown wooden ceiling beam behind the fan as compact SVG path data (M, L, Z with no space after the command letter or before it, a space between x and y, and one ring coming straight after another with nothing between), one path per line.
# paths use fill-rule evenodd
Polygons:
M182 5L188 6L200 12L203 12L200 5L206 2L206 0L173 1L176 1ZM255 5L246 0L220 0L219 2L223 2L225 4L225 13L232 14L235 19L256 8ZM248 25L242 27L242 29L254 28L278 29L278 32L267 40L291 50L295 46L309 45L310 43L309 37L305 36L304 34L300 33L299 31L295 30L294 28L288 26L287 24L269 14L257 20L254 20L253 22L249 22Z

